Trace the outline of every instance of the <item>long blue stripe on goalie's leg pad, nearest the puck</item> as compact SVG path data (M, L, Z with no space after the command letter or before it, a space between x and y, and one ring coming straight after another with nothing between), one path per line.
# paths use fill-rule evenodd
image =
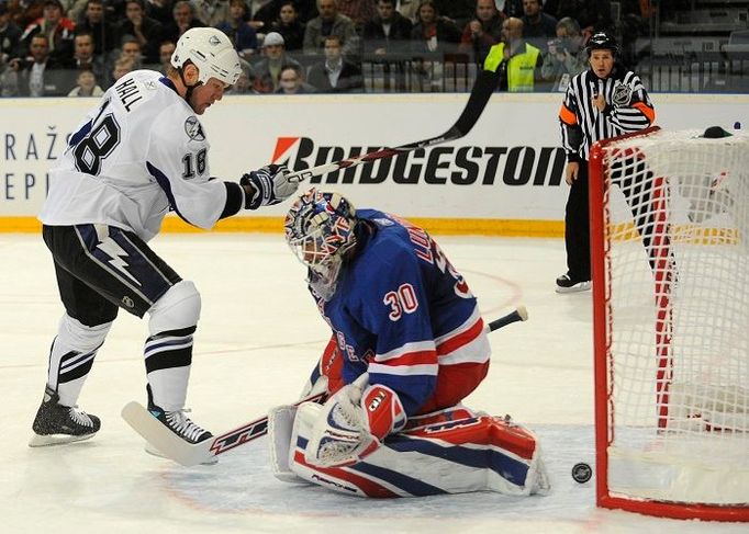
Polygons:
M398 452L417 452L468 467L489 467L517 486L524 486L528 475L527 464L489 447L474 450L459 445L441 446L427 440L414 440L400 434L388 436L385 445Z

